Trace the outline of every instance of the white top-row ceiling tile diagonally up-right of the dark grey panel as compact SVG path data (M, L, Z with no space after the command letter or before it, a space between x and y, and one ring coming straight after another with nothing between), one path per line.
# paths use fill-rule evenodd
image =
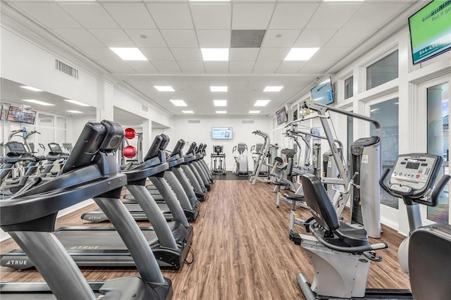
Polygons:
M302 29L310 20L319 4L277 4L270 29Z

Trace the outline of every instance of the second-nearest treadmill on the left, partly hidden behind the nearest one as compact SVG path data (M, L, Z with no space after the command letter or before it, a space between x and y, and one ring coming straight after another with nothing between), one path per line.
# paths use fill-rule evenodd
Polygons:
M183 267L190 249L192 227L175 196L169 194L170 188L163 178L163 173L168 170L168 163L160 150L162 142L161 136L157 136L144 162L123 173L127 175L126 187L138 201L136 205L142 207L147 219L152 223L152 228L142 227L141 230L160 267L179 270ZM147 192L144 187L147 177L154 178L161 185L175 222L166 222L154 199ZM105 215L105 218L108 218L106 213ZM56 230L55 236L79 266L135 266L114 227L61 227ZM0 265L23 270L32 267L33 263L21 249L15 249L1 255Z

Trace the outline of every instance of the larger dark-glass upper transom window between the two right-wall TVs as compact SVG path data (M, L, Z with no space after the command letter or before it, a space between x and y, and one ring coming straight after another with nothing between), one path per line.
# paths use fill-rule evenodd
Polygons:
M398 53L393 52L366 68L366 89L372 89L397 78Z

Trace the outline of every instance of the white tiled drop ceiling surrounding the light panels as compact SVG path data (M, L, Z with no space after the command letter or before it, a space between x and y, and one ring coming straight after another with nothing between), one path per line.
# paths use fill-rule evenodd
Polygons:
M172 115L268 115L309 91L317 78L355 59L355 49L421 1L2 1ZM420 3L421 4L421 3ZM421 7L421 6L420 6ZM393 27L393 30L390 28ZM261 46L230 48L232 30L265 30ZM123 61L109 47L137 47L148 61ZM284 61L292 47L319 47L309 61ZM228 48L228 61L202 61L200 48ZM340 64L341 63L341 64ZM171 85L175 92L158 92ZM210 92L227 85L228 92ZM280 92L263 92L267 85ZM171 99L183 99L176 107ZM226 108L213 100L226 99ZM271 99L255 108L258 99Z

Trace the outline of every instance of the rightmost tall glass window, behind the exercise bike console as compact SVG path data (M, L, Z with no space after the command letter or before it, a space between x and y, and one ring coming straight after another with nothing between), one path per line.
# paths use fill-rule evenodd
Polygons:
M443 156L443 165L438 179L443 174L449 174L448 165L450 158L448 156L448 127L450 118L449 108L449 92L450 85L445 83L443 85L436 85L429 87L427 91L428 101L428 153ZM440 199L438 206L429 207L427 218L436 223L449 222L449 199L448 199L448 185L446 185Z

